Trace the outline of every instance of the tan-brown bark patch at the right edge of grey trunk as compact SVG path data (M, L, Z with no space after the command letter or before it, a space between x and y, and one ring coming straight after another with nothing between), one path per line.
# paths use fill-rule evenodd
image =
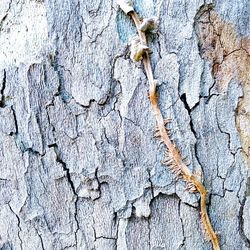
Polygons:
M217 90L225 92L232 79L242 84L244 96L236 112L236 126L250 165L250 38L238 37L235 27L222 20L211 5L196 16L201 56L212 62Z

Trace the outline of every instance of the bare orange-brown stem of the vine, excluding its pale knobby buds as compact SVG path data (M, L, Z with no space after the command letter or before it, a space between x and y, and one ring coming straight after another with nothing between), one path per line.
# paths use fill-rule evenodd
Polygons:
M128 14L131 16L136 25L141 44L147 45L146 35L139 28L141 21L138 15L136 14L135 11L131 11ZM189 186L193 187L195 191L198 191L200 193L201 221L204 226L206 234L208 235L209 239L212 242L213 249L219 250L220 249L219 240L217 234L213 230L213 227L211 225L210 219L207 214L207 208L206 208L207 191L204 185L198 180L198 178L195 175L192 174L192 172L189 170L186 164L184 164L183 158L179 150L170 140L167 129L165 127L165 120L163 119L161 110L158 105L158 98L156 94L156 81L154 80L153 77L148 51L145 51L143 55L143 64L149 81L149 99L157 122L156 134L157 137L159 137L160 140L167 147L167 153L163 161L163 164L166 164L172 170L172 172L174 172L177 175L178 178L182 178L184 181L188 183Z

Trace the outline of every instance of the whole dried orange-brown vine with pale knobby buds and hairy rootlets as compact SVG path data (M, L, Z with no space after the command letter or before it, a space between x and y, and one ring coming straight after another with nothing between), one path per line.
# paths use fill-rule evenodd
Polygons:
M165 157L162 163L166 165L176 175L178 179L181 178L187 183L187 189L189 189L190 192L200 193L201 221L205 233L212 242L213 249L219 250L219 240L217 234L213 230L213 227L207 214L207 190L200 182L198 177L193 174L187 167L187 164L185 164L185 161L181 156L180 151L171 141L168 135L168 130L165 127L168 120L163 119L161 110L158 105L158 96L156 92L157 81L154 79L153 76L149 57L150 49L147 46L147 39L145 35L146 31L155 28L157 21L155 20L155 18L148 18L141 21L137 13L134 11L131 1L118 0L118 5L126 14L128 14L133 19L139 35L139 38L135 38L131 43L131 58L134 61L142 60L144 64L146 75L149 81L149 99L157 123L155 137L159 138L166 145Z

